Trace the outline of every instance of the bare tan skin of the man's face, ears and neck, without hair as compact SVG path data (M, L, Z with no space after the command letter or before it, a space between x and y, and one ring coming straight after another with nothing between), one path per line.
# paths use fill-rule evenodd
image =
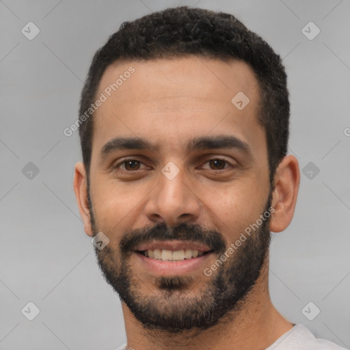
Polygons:
M250 66L244 62L196 56L145 62L118 61L107 67L98 92L130 66L135 68L120 88L94 113L94 137L90 167L90 193L100 231L108 232L111 249L117 249L129 229L180 221L215 228L228 242L254 223L269 195L269 167L265 131L258 124L259 91ZM250 103L241 111L231 99L244 92ZM192 137L234 135L249 144L252 157L237 149L185 148ZM159 150L116 150L105 159L99 152L117 136L144 137ZM130 157L142 162L137 174L113 170L112 165ZM224 159L226 169L208 163ZM161 169L172 161L179 169L169 180ZM230 164L232 167L230 167ZM291 222L299 190L299 165L293 155L280 162L273 183L269 228L281 232ZM85 232L92 236L83 163L75 165L74 189ZM210 266L217 256L211 256ZM139 290L161 293L149 271L131 256L131 269L139 276ZM241 310L230 322L224 320L202 332L167 334L142 327L122 303L128 347L155 349L265 349L293 327L271 303L268 258ZM206 267L208 267L206 266ZM198 293L207 281L202 271L192 274L187 288Z

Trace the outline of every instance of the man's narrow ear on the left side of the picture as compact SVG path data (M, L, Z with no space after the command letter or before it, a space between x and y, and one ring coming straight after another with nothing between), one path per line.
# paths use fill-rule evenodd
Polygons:
M85 166L82 162L75 164L73 187L75 191L75 198L77 198L81 219L83 219L84 230L87 236L92 237L89 201L87 198L87 179Z

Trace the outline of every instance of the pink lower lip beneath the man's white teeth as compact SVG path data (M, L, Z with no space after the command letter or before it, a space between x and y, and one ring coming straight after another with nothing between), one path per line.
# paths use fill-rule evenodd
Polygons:
M206 267L204 264L212 254L213 253L206 253L197 258L179 261L163 261L135 253L138 261L140 261L148 271L157 275L185 275L186 273L193 273L199 269L204 271Z

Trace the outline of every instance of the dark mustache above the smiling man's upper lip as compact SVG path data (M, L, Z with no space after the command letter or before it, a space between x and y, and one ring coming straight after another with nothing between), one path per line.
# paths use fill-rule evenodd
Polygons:
M130 230L124 234L119 245L122 254L128 254L134 252L139 244L175 240L204 243L217 254L224 253L227 245L226 239L220 232L187 222L173 227L161 222L142 229Z

